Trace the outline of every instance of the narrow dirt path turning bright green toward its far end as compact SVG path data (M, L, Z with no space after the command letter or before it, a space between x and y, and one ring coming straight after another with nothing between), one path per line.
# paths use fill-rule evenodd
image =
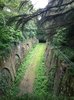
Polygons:
M41 56L44 55L45 51L45 44L38 44L35 47L35 51L33 52L33 55L31 55L30 63L27 65L26 72L23 76L22 81L19 85L19 95L24 95L25 93L32 93L33 92L33 85L35 81L35 72L36 67L38 66Z

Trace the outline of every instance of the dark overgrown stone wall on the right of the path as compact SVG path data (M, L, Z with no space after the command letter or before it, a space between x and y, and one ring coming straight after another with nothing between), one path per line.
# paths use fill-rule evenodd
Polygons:
M61 56L61 58L60 58ZM72 63L66 59L56 48L47 43L46 48L46 67L48 74L54 70L53 90L55 95L74 96L74 78L70 74L69 68L73 67ZM52 72L53 73L53 72Z

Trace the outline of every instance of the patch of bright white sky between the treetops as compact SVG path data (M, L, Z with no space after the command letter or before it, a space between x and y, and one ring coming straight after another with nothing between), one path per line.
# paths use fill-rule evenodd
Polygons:
M48 4L48 0L31 0L35 9L44 8Z

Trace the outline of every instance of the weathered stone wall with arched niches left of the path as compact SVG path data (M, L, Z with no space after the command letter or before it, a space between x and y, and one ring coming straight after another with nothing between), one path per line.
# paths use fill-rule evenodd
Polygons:
M36 38L31 38L25 43L19 43L17 47L12 48L10 55L3 60L0 60L0 94L2 95L3 86L5 84L10 86L15 80L16 71L21 64L23 58L27 55L29 50L38 43Z

